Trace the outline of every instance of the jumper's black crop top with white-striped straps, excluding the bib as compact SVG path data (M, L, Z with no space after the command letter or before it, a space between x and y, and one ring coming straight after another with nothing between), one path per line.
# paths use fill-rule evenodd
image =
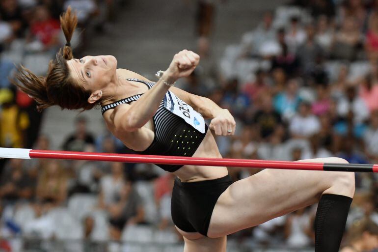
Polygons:
M128 81L146 84L150 89L155 85L139 79L127 79ZM101 112L114 109L120 104L128 104L140 98L141 94L105 105ZM183 118L168 111L164 107L164 98L153 116L155 137L151 145L144 151L134 151L136 154L164 155L164 156L192 156L204 139L208 126L205 124L205 133L201 133L190 126ZM157 165L164 170L173 172L181 168L179 165Z

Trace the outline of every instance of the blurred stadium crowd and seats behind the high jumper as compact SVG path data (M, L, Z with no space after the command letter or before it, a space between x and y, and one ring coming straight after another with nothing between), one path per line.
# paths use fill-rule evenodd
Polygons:
M198 53L177 86L234 115L235 136L216 139L223 157L378 163L377 0L1 0L1 147L129 151L100 110L39 113L9 83L15 64L46 73L69 5L79 13L76 58L114 55L156 81L175 53ZM229 168L235 181L258 171ZM0 160L0 172L0 251L183 251L170 217L174 177L154 165ZM356 174L356 187L343 246L378 241L376 175ZM314 251L315 211L230 235L228 251Z

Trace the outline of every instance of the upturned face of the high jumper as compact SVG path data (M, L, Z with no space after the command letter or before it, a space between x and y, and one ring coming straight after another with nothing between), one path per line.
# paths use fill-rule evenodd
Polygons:
M97 98L116 76L117 59L111 55L73 58L67 63L72 78Z

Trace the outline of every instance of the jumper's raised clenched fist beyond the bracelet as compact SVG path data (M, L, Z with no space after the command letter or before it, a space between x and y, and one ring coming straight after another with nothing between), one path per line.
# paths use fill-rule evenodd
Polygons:
M192 51L183 50L172 59L171 64L165 71L173 79L187 77L193 72L194 68L198 65L199 55Z

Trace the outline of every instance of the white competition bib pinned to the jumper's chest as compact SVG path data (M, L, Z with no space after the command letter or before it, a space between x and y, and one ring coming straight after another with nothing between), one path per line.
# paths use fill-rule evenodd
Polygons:
M205 119L203 116L193 110L190 105L176 97L171 91L165 93L164 108L183 118L194 129L205 133Z

